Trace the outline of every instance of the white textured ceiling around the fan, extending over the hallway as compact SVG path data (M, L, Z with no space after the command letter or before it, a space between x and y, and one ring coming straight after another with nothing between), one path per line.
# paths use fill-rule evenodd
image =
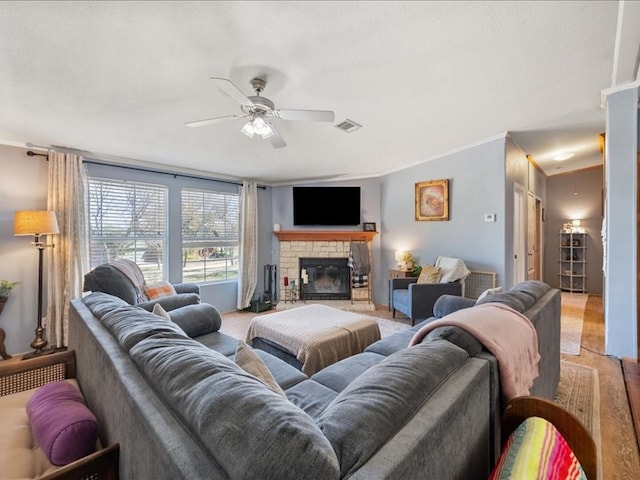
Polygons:
M549 174L601 161L601 91L637 80L640 2L0 2L0 143L269 184L376 176L510 132ZM210 77L276 108L240 133ZM349 118L353 133L334 127ZM571 149L559 163L550 153ZM90 154L87 154L90 155Z

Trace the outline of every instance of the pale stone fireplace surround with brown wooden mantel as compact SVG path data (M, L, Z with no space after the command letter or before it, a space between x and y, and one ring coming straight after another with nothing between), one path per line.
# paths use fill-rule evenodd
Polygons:
M317 263L318 260L329 261L329 263L340 262L346 266L347 259L349 258L349 252L351 249L351 242L362 242L365 241L371 248L371 240L377 234L377 232L364 232L364 231L327 231L327 230L290 230L290 231L277 231L274 234L280 240L280 262L278 265L278 273L279 273L279 291L281 292L280 298L284 299L284 277L287 277L289 281L295 280L296 286L300 287L300 285L304 285L303 277L302 277L302 267L301 269L301 260L302 259L314 259ZM318 264L320 265L320 264ZM336 288L335 283L330 286L330 282L334 282L333 273L330 275L328 272L322 272L325 274L325 278L322 282L325 282L324 285L320 285L324 289L333 290ZM310 292L307 288L305 292L305 287L303 286L302 291L302 300L327 300L327 301L338 301L343 300L343 303L346 301L347 303L351 301L351 303L357 302L359 305L354 304L354 309L362 309L366 310L375 308L373 303L370 301L370 291L368 288L351 288L350 284L350 270L347 269L344 271L346 277L341 277L342 285L341 288L345 288L345 292L341 293L340 299L329 298L330 296L336 296L333 291L322 291L322 292ZM308 279L311 279L310 271L307 269L306 276ZM346 286L344 285L344 279L346 279ZM329 283L327 283L329 280ZM302 282L302 283L301 283ZM372 279L369 279L369 284L371 285ZM316 290L317 290L316 285ZM306 294L311 294L315 296L315 294L322 293L325 296L324 298L316 298L312 299L309 296L305 297ZM356 308L357 307L357 308ZM285 308L284 302L280 302L277 308Z

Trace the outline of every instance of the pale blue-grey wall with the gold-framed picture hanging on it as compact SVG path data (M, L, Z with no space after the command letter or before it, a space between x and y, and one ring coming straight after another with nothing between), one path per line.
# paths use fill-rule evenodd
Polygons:
M449 221L415 220L415 184L449 180ZM462 258L471 270L505 275L505 139L387 175L382 184L382 269L394 268L394 251L405 249L420 264L438 256ZM485 223L484 215L496 215ZM377 284L387 299L386 275Z

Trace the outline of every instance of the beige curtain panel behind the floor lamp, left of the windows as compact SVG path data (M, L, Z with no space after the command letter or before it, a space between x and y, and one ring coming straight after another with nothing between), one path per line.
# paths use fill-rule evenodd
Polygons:
M82 157L49 151L47 209L58 217L60 234L47 249L47 318L49 346L68 343L69 303L82 296L89 270L89 230L85 206L87 174Z

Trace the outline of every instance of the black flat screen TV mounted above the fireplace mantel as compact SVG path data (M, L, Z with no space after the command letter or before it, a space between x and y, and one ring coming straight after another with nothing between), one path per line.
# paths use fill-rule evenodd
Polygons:
M293 187L293 224L360 225L360 187Z

